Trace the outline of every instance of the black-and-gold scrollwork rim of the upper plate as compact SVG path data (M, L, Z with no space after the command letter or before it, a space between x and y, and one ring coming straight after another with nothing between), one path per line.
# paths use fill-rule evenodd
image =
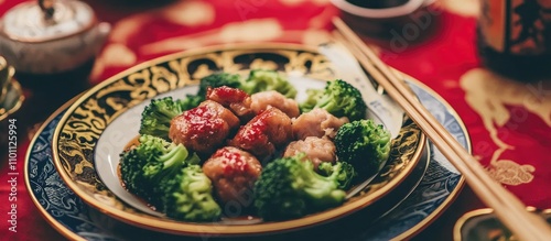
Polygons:
M250 235L280 231L291 231L301 228L312 227L315 224L321 224L329 220L342 218L354 211L363 209L368 205L372 204L385 194L388 194L396 187L401 180L409 175L413 169L414 164L420 160L422 151L424 150L425 138L424 134L419 130L419 140L414 153L411 154L411 165L404 165L401 172L396 174L388 183L382 185L380 188L370 191L369 195L363 195L357 198L353 198L345 202L343 206L326 210L323 212L310 215L300 219L293 219L288 221L279 222L261 222L256 224L224 224L220 222L183 222L175 221L168 218L155 217L140 212L123 201L119 200L111 194L95 173L95 166L93 155L94 155L94 141L99 139L101 131L109 124L110 121L116 119L120 113L125 112L129 108L142 102L147 99L153 98L159 94L174 90L184 87L190 84L196 84L193 79L198 79L202 76L188 75L190 72L198 73L203 72L204 65L196 66L196 69L188 69L187 64L196 61L198 56L213 57L219 55L218 57L213 57L213 65L223 72L239 72L239 65L236 65L233 61L230 52L239 52L244 55L250 55L256 53L271 53L271 54L283 54L284 56L291 56L289 59L289 66L284 66L285 70L309 70L309 76L317 79L334 79L331 76L331 63L321 55L315 48L307 47L296 44L230 44L223 46L212 46L201 50L193 50L182 53L176 53L160 58L155 58L132 68L129 68L111 78L100 83L96 87L91 88L79 97L65 112L62 117L58 125L56 127L53 140L52 140L52 151L54 165L60 173L62 179L67 184L67 186L79 196L86 204L90 205L93 208L99 209L104 213L107 213L116 219L123 222L147 228L155 231L175 233L175 234L186 234L186 235L201 235L201 234L217 234L217 235ZM195 58L194 58L195 57ZM256 62L258 61L258 62ZM307 69L304 65L292 66L293 61L299 61L301 63L310 62L312 69ZM262 59L255 59L249 63L246 69L255 68L253 65L263 65L270 63L262 63ZM273 64L273 63L271 63ZM278 64L278 63L276 63ZM289 67L295 67L289 69ZM175 73L168 73L168 68L171 68ZM203 73L205 74L205 73ZM152 77L153 76L153 77ZM204 75L203 75L204 76ZM153 78L153 79L152 79ZM193 79L192 79L193 78ZM145 81L145 84L143 84ZM142 88L142 86L133 84L151 85L154 89ZM107 88L115 88L126 91L129 95L128 100L121 98L109 99L110 95ZM95 105L98 103L98 99L95 97L105 98L101 101L109 102L109 108L111 109L94 109ZM91 110L90 110L91 108ZM73 114L75 111L78 112L79 117L88 118L86 120L76 120ZM110 116L101 116L100 119L95 119L95 117L86 116L91 112L95 114L105 114L110 111ZM98 112L99 111L99 112ZM84 114L84 116L83 116ZM69 122L69 123L68 123ZM66 125L86 125L86 128L77 127L78 130L65 130ZM69 128L71 129L71 128ZM86 129L86 130L85 130ZM83 131L80 133L80 131ZM80 143L76 143L80 141ZM62 143L63 142L63 143ZM82 145L85 145L84 149ZM84 150L84 151L83 151ZM62 156L62 154L64 156ZM71 158L67 158L71 155ZM75 168L76 167L76 168ZM76 174L75 174L76 169ZM83 178L91 178L95 182L87 183L83 182Z

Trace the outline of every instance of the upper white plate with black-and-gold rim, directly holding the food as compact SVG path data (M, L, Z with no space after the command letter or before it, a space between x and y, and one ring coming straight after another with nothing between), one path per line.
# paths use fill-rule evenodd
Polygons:
M176 221L149 209L122 188L117 175L119 154L137 135L141 112L151 98L183 98L208 74L255 68L285 73L299 92L338 78L324 55L295 45L206 48L151 61L96 86L68 108L52 140L61 178L89 206L132 226L186 235L247 235L312 227L368 209L397 188L421 160L424 135L404 121L391 157L366 189L339 207L277 222Z

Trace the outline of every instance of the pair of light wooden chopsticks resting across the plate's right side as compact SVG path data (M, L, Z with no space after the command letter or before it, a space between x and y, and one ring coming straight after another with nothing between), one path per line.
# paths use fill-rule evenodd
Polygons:
M402 78L382 63L343 20L334 18L333 24L342 34L339 42L348 47L371 77L415 121L434 145L463 174L476 195L494 209L496 216L517 238L530 241L551 240L550 226L541 217L528 212L526 206L515 195L493 179L479 162L418 101Z

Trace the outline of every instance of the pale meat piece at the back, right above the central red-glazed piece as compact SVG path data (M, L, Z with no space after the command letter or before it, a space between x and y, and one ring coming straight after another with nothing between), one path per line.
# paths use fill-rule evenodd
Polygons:
M276 90L261 91L251 95L250 108L258 114L269 106L283 111L290 118L299 117L299 103L294 99L289 99Z

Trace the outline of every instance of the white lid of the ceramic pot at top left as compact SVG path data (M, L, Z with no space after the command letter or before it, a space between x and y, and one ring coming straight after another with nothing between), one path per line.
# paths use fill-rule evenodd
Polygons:
M28 1L6 12L0 32L19 42L46 42L84 32L95 22L91 8L80 1Z

